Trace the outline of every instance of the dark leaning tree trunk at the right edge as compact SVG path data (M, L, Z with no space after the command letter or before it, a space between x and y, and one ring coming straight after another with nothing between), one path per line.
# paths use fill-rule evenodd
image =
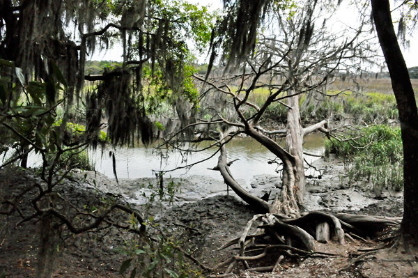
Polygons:
M398 104L403 141L403 240L418 245L418 112L414 90L396 39L388 0L371 0L373 18L382 52L389 68Z

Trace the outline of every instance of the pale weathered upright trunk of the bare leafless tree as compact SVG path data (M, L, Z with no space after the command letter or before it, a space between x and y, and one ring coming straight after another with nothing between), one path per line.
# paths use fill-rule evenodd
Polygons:
M291 91L291 93L295 93ZM300 124L299 95L288 98L288 105L292 109L287 111L286 150L295 157L293 172L295 173L295 196L297 203L303 203L305 190L305 176L303 164L303 129Z

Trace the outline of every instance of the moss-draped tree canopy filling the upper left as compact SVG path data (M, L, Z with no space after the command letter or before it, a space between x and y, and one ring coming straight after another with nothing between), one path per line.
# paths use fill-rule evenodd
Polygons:
M196 97L190 65L194 52L203 52L208 44L215 16L185 1L6 0L0 10L1 58L22 68L26 82L49 80L54 61L68 83L65 104L85 102L96 115L88 118L96 120L108 109L103 113L115 144L129 144L136 134L150 140L146 114L154 108L145 105L147 98L171 98L176 105L183 97ZM121 68L86 76L86 57L115 40L123 45ZM150 83L144 84L145 79ZM84 80L111 86L83 90ZM151 95L148 89L155 85L160 89ZM116 95L121 101L110 105L107 100ZM86 124L98 130L100 121Z

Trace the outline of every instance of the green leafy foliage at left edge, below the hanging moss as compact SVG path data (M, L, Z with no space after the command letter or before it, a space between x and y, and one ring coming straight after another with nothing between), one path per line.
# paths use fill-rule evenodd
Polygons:
M31 150L40 154L41 178L48 184L58 178L62 169L93 169L85 150L91 136L84 125L69 122L65 113L58 119L58 107L63 105L68 89L58 66L52 63L53 72L47 83L29 82L26 86L20 70L5 61L0 64L1 73L8 72L6 76L10 76L10 72L16 72L20 82L14 83L10 77L1 78L0 87L7 90L6 99L1 100L0 106L3 132L0 154L13 149L15 154L10 162L22 159L22 153ZM100 132L100 139L107 140L104 132Z

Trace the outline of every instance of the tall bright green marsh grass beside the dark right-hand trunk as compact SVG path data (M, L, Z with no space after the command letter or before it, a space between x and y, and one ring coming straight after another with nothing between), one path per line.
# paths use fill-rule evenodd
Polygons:
M374 125L348 132L352 140L325 142L325 154L336 153L343 159L348 182L366 180L380 195L384 189L403 188L401 129Z

